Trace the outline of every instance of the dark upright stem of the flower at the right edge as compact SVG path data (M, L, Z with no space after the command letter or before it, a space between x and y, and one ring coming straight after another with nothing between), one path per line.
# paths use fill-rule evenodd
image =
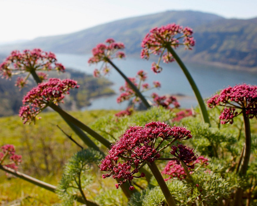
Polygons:
M251 129L250 129L250 120L246 115L246 112L243 110L243 121L245 127L245 149L243 153L243 164L241 166L239 174L244 176L246 175L248 163L251 155Z

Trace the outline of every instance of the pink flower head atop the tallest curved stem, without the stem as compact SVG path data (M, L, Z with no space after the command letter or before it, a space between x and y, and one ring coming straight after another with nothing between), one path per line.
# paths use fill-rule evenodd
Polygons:
M160 55L158 63L152 63L152 71L159 73L162 67L159 62L162 59L164 63L173 62L172 54L167 50L167 45L172 48L177 48L179 45L184 45L187 49L192 49L195 40L192 36L193 31L189 27L183 28L177 24L168 24L166 26L155 27L146 34L142 41L141 58L149 59L150 54ZM180 41L182 39L182 41Z

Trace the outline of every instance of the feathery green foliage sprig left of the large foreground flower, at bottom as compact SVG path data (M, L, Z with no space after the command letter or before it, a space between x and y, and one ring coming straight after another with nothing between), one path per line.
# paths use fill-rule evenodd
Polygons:
M82 194L83 190L93 182L92 175L87 175L87 172L90 172L93 164L98 164L102 158L98 151L83 149L68 160L58 185L58 195L63 205L73 205L75 199L85 195Z

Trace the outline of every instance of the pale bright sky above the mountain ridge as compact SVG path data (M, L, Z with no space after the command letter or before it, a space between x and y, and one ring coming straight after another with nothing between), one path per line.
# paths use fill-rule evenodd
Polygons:
M257 0L0 0L0 43L68 34L167 10L257 17Z

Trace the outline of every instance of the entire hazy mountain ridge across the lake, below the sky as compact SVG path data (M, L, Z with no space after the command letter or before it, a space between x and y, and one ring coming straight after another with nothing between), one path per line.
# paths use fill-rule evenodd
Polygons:
M165 11L98 25L72 34L40 37L22 44L1 46L0 54L13 49L41 48L56 53L86 54L107 38L125 44L126 54L140 55L141 41L156 26L176 23L194 31L192 51L180 49L186 61L220 64L234 69L257 70L257 18L225 19L198 11Z

